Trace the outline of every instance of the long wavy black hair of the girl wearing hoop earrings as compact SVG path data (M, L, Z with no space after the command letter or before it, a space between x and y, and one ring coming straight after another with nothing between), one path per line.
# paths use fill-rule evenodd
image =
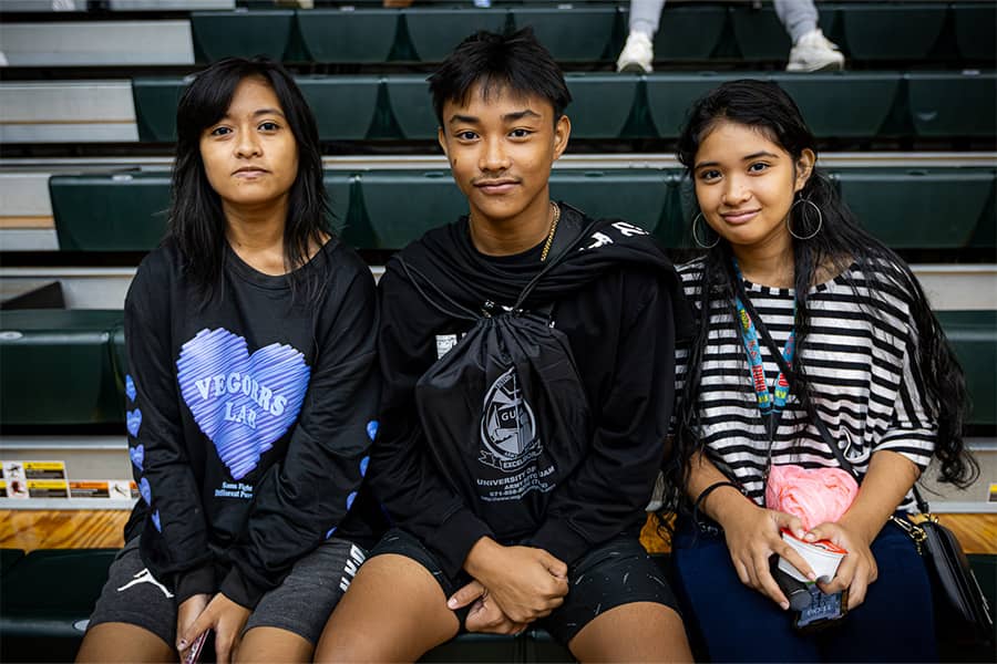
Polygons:
M731 81L708 93L691 108L678 142L678 158L691 174L702 141L722 122L731 122L761 132L768 139L784 149L799 163L804 149L813 151L813 135L793 100L775 83L742 80ZM907 264L891 249L863 230L841 200L828 177L814 167L809 180L799 193L820 209L823 224L813 237L793 243L793 287L796 295L795 343L798 361L793 363L793 393L804 395L802 404L811 421L818 416L801 361L808 343L810 311L808 293L829 268L833 274L847 279L854 263L859 271L875 276L884 292L890 291L909 302L912 325L917 338L916 356L913 357L915 380L924 390L927 403L934 409L938 424L935 456L941 463L941 479L960 487L972 484L978 475L976 461L966 453L963 426L968 409L968 396L962 369L955 359L942 328L932 313L924 291ZM808 237L818 230L816 214L806 204L793 205L787 220L795 234ZM709 242L712 242L712 236ZM676 416L675 454L666 468L675 494L670 507L677 507L681 489L689 476L689 461L703 450L698 436L700 427L699 396L701 365L710 330L710 302L723 302L730 310L730 324L736 323L736 279L730 245L722 238L702 257L701 290L695 298L695 334L689 347L681 404ZM851 281L851 280L850 280ZM854 282L850 286L857 289ZM872 297L884 293L871 289Z

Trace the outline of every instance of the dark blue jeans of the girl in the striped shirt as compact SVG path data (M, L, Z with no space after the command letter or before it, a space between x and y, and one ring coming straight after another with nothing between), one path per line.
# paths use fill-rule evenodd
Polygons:
M675 590L713 662L937 662L932 589L911 538L887 522L872 553L878 578L865 601L815 634L796 632L791 612L741 583L722 533L681 521Z

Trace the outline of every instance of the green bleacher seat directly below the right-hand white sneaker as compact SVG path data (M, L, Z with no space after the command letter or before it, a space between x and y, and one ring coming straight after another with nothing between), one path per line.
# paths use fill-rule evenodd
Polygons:
M872 138L881 134L896 98L897 72L772 74L821 138Z

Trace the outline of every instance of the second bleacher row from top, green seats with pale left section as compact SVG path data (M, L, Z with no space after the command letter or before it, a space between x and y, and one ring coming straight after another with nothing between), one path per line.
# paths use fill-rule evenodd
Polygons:
M997 72L568 73L574 139L674 139L690 105L724 81L782 85L821 139L976 139L997 134ZM433 142L439 125L422 74L297 79L326 142ZM189 81L4 82L0 142L171 143Z

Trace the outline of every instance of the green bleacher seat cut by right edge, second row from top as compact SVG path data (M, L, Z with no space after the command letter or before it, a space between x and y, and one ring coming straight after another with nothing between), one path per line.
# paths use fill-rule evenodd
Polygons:
M997 73L909 73L911 116L918 136L997 134Z

